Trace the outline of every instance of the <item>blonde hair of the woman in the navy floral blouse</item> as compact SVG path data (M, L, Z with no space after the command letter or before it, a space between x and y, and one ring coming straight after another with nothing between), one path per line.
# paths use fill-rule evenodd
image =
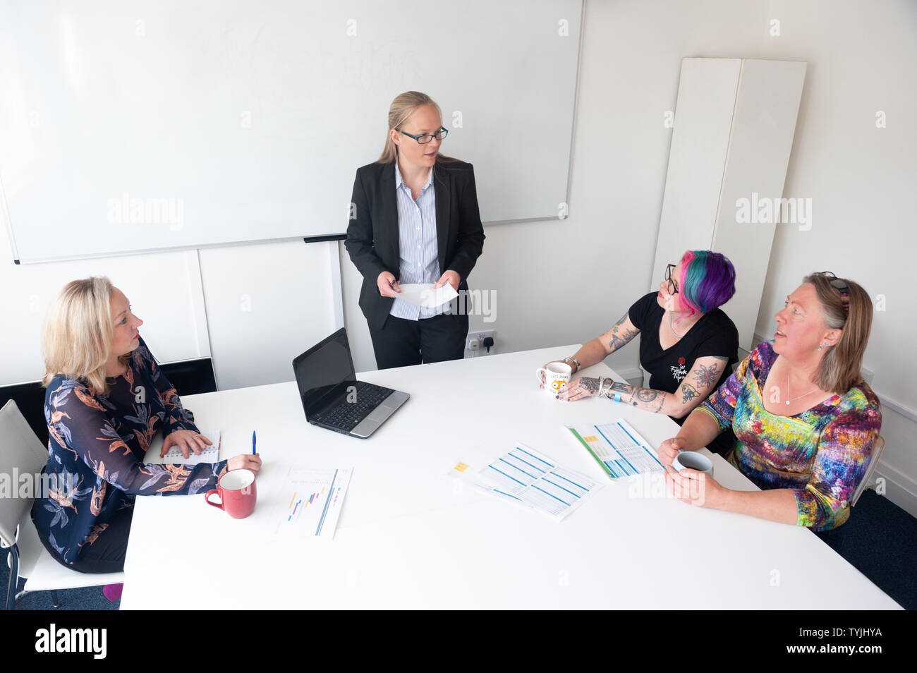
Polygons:
M47 387L56 374L80 381L94 395L108 392L105 362L111 351L111 295L114 286L105 276L64 285L45 319L43 350ZM127 363L130 355L119 358Z

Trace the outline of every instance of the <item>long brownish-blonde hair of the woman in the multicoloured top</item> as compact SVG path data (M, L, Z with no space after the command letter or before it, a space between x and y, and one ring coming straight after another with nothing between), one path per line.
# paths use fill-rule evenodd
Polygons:
M802 279L815 286L818 301L822 304L824 324L829 329L840 329L841 337L834 346L828 346L822 361L815 370L815 381L823 391L844 394L863 381L860 368L866 352L869 332L872 329L872 300L866 290L854 281L837 279L834 274L812 273Z

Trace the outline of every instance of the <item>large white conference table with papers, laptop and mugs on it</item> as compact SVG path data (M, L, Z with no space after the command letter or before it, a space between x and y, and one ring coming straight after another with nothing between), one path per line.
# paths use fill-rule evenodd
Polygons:
M184 398L199 427L222 430L221 458L250 452L258 431L258 506L235 520L203 495L138 498L121 608L900 607L808 529L691 507L664 489L640 497L604 478L564 425L624 418L654 447L678 428L539 390L536 368L576 348L360 374L411 394L366 440L307 424L294 382ZM613 374L604 364L584 373ZM555 523L448 476L459 459L480 464L518 443L602 489ZM713 463L725 486L756 488ZM271 533L291 466L354 468L333 540Z

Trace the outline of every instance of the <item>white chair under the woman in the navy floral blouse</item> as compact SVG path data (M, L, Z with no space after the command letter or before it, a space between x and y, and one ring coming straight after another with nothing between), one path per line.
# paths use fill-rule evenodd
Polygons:
M77 589L124 581L123 572L87 574L62 566L51 558L41 544L39 534L32 524L31 497L19 498L17 483L12 482L13 470L19 474L38 474L48 462L48 449L26 423L16 403L10 400L0 409L0 474L10 478L13 492L9 498L0 498L0 547L9 549L7 565L10 568L9 586L6 590L6 610L16 606L17 599L29 591L51 592L54 607L60 605L58 589ZM25 589L16 593L19 578L27 578Z

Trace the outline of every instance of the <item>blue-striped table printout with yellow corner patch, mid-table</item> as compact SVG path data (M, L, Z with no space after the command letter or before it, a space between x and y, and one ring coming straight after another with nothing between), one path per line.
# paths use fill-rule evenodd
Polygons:
M551 458L524 444L493 459L477 472L459 461L452 476L470 480L482 491L528 507L560 521L573 512L602 484L584 474L559 466Z

